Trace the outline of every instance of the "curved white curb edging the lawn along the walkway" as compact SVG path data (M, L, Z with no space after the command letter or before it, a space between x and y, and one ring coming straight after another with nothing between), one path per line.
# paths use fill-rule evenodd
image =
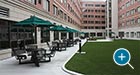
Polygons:
M85 44L86 42L84 42L82 44L82 46ZM62 66L62 70L71 74L71 75L84 75L84 74L81 74L81 73L78 73L78 72L74 72L74 71L71 71L71 70L68 70L65 68L65 65L68 63L68 61L75 55L75 53L77 53L77 51L79 50L79 48L77 50L75 50L75 52L68 58L68 60L64 63L64 65Z

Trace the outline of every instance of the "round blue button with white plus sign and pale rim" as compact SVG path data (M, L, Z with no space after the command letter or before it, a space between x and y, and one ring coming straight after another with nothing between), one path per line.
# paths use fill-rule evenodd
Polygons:
M113 60L117 65L124 66L129 63L131 55L125 48L119 48L114 52Z

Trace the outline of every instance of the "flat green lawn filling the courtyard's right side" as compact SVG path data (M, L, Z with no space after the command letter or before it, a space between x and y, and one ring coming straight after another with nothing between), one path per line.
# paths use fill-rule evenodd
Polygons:
M118 48L126 48L131 54L129 66L118 66L113 61L113 53ZM66 68L85 75L140 75L140 41L116 40L106 43L86 43L84 55L75 54Z

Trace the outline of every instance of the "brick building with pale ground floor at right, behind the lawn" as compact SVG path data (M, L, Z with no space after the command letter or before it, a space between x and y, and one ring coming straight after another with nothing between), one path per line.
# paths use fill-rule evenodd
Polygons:
M140 40L140 0L118 0L118 18L119 36Z

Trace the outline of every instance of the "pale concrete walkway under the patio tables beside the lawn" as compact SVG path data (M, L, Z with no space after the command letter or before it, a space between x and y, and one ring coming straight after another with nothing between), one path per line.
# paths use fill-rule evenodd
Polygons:
M82 40L84 44L86 40ZM40 63L40 67L34 64L19 65L18 61L13 58L0 61L0 75L69 75L62 70L62 66L75 53L79 45L67 48L66 51L57 52L51 62Z

